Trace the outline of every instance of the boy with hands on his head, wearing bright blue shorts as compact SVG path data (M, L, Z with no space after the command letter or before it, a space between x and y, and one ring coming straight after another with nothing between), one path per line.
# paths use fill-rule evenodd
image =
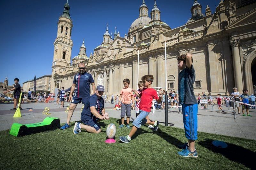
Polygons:
M183 150L178 152L183 157L197 158L195 140L197 139L197 101L193 91L193 84L196 79L194 67L192 65L192 55L182 54L178 57L179 73L179 101L182 106L183 123L185 136L188 143L178 145Z

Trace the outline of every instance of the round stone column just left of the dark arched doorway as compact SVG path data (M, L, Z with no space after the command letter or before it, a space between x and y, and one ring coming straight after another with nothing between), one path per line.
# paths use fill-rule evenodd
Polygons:
M235 86L237 88L237 91L241 92L243 90L243 79L242 79L241 60L240 60L240 54L239 54L239 44L240 44L240 39L235 39L230 41L230 45L233 51Z

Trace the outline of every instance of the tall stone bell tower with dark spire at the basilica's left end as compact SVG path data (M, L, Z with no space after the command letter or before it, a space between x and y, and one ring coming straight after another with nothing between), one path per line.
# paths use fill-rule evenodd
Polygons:
M55 39L53 61L52 61L52 76L55 73L60 73L62 67L70 66L71 49L73 41L71 40L72 20L69 14L68 1L64 5L64 11L58 21L57 38Z

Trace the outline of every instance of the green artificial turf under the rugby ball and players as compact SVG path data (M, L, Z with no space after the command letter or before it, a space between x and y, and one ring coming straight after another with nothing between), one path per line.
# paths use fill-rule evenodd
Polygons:
M153 132L142 126L128 144L119 136L131 129L119 129L119 119L100 122L103 132L73 134L74 123L67 130L57 129L23 137L0 132L0 169L254 169L254 140L198 132L198 158L177 154L178 144L186 141L184 130L159 126ZM116 143L106 144L106 128L117 127ZM213 140L225 141L227 148L217 148Z

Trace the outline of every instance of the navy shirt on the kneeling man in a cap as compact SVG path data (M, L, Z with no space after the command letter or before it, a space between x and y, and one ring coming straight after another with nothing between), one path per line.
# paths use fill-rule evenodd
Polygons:
M104 108L104 100L102 97L100 99L96 94L93 94L89 97L87 102L84 104L84 109L81 113L81 120L88 120L88 119L96 119L91 113L91 107L94 106L99 114L101 114L102 109Z

